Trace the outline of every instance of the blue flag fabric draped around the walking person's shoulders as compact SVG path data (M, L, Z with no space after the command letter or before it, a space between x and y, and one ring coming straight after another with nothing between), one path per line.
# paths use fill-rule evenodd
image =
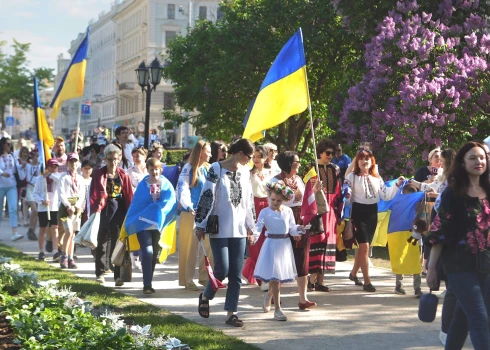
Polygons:
M152 223L156 225L155 229L162 232L177 216L177 201L170 181L160 176L160 198L153 202L146 182L148 178L147 175L136 188L126 215L125 228L128 235L147 230L153 226Z

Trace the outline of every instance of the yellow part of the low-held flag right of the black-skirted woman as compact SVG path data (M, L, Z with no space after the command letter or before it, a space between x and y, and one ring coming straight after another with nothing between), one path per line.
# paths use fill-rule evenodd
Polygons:
M407 242L410 231L393 232L388 235L388 251L390 253L391 269L400 275L420 274L420 246Z

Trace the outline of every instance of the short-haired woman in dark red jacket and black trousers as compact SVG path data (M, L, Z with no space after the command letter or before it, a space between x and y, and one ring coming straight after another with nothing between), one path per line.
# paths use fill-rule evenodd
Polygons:
M124 217L133 200L133 188L129 175L120 167L122 151L117 145L111 144L104 149L106 166L93 172L90 185L90 213L100 213L100 227L95 249L95 275L97 281L104 283L106 261L111 261L112 252L119 237ZM109 244L106 244L110 242ZM109 246L109 249L106 249ZM108 259L106 259L108 256ZM124 283L119 278L120 267L114 266L116 286Z

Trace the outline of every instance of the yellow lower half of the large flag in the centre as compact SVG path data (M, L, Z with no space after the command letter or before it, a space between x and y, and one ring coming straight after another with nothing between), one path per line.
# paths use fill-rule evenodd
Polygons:
M285 122L308 107L306 67L260 90L250 112L243 138L260 140L262 131Z

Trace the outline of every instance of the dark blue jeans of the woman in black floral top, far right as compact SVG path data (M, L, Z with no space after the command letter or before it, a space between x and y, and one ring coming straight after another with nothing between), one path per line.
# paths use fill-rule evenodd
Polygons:
M468 328L475 350L490 349L487 308L490 275L458 272L447 276L458 303L449 327L445 349L462 349L468 335Z

